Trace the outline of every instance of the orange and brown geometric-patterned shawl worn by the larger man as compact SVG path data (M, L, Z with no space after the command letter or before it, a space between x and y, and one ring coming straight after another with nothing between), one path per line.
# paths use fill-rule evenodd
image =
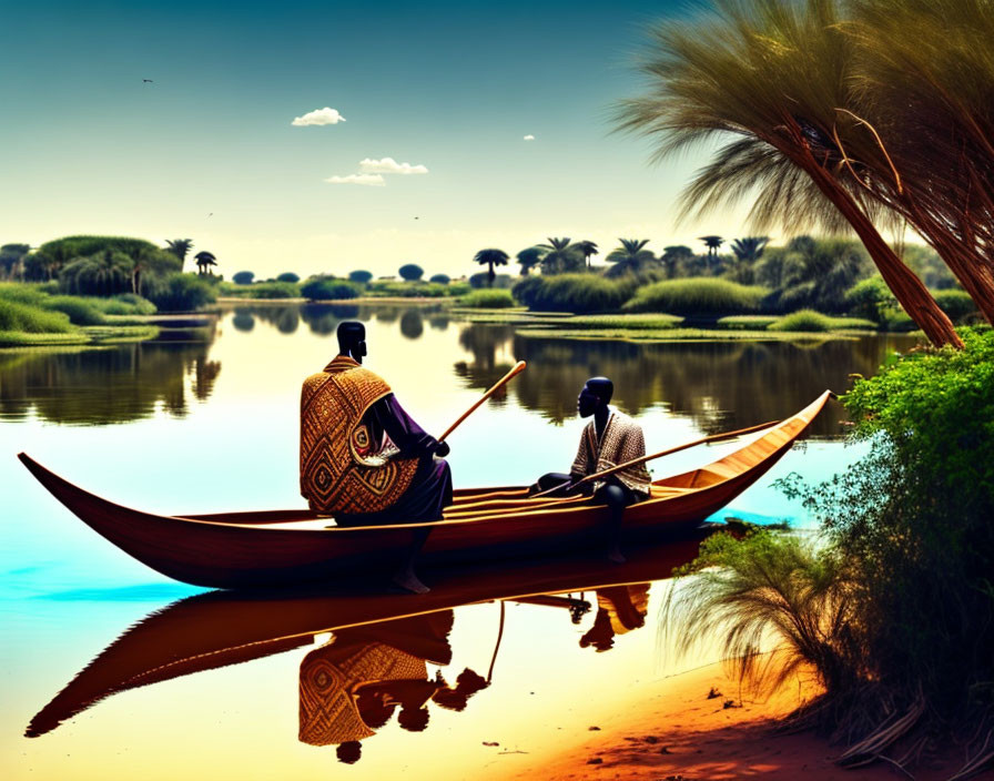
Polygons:
M311 509L328 515L378 513L407 490L416 458L365 458L375 444L362 425L363 415L389 392L381 377L341 355L304 381L301 495Z

